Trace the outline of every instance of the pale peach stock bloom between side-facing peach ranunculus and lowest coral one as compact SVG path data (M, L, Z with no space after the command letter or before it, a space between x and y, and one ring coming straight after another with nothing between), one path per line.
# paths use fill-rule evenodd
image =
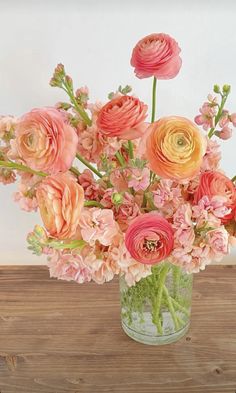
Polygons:
M90 245L98 240L102 245L109 246L118 234L118 225L113 212L109 209L96 207L83 209L80 217L82 238Z

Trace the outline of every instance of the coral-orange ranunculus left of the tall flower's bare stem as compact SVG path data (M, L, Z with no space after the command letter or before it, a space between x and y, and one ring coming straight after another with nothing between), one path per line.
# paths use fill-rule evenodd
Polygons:
M103 135L121 139L139 138L146 130L147 105L132 96L109 101L98 114L97 125Z

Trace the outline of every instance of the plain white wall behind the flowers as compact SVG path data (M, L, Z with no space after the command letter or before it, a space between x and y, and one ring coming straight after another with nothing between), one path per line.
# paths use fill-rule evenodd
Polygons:
M236 112L235 16L234 0L0 0L0 113L18 116L63 99L48 85L58 62L90 87L92 99L131 84L150 103L151 80L136 79L129 60L152 32L175 37L183 59L179 76L158 84L158 116L193 118L214 83L232 85L228 108ZM229 176L236 173L235 148L236 135L223 143ZM14 189L0 185L0 264L43 263L25 241L40 219L18 209Z

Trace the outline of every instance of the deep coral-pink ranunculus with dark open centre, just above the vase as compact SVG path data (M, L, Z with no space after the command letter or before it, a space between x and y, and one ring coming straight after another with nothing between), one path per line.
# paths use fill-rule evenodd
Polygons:
M135 218L125 234L125 245L132 258L149 265L167 258L173 244L171 224L156 212Z

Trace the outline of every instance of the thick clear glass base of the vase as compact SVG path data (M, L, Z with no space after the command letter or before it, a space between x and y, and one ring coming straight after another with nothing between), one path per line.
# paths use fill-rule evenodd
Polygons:
M122 321L122 328L124 332L132 338L133 340L147 345L165 345L165 344L172 344L178 340L180 340L187 331L189 330L190 323L184 326L182 329L178 330L175 333L163 335L163 336L149 336L147 334L136 332L135 330L131 329Z

